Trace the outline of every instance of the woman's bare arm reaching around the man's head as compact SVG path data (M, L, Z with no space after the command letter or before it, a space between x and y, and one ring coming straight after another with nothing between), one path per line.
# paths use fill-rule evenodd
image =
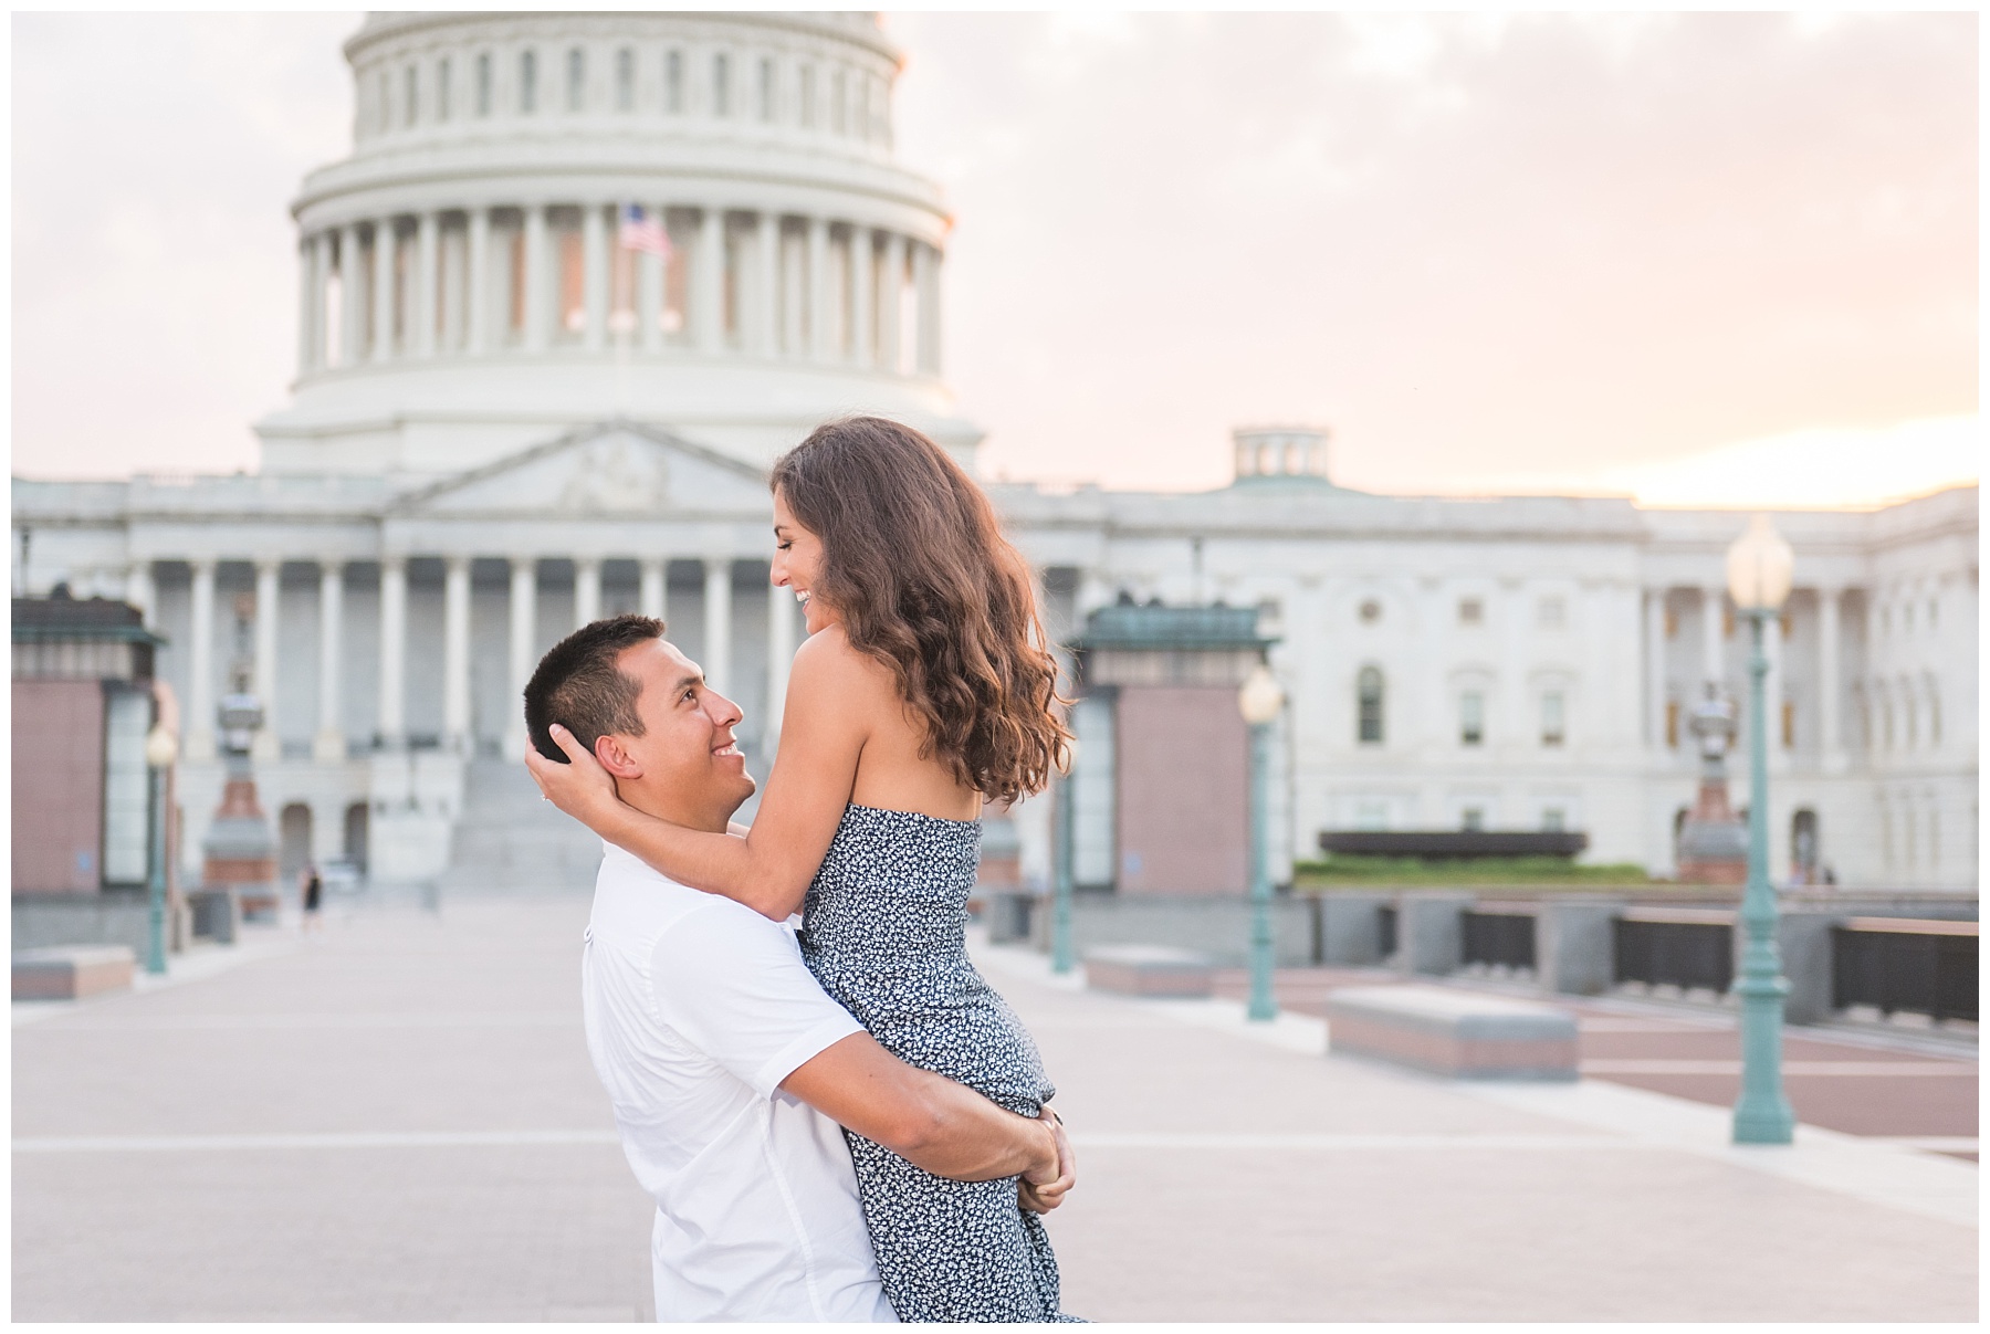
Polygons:
M864 753L864 710L852 708L852 696L864 698L866 682L840 638L816 634L794 656L780 755L744 839L687 829L635 809L565 728L555 726L553 740L571 763L555 763L527 748L525 767L553 805L673 881L786 920L800 911L836 837Z

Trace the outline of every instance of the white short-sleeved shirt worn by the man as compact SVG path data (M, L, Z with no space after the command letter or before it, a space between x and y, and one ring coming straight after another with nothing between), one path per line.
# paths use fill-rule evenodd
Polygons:
M780 1091L864 1032L794 932L605 845L581 1008L657 1201L657 1320L894 1320L842 1129Z

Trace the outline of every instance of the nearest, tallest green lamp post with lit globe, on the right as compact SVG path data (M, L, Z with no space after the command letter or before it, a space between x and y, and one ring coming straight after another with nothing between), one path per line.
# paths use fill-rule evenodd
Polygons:
M1783 1095L1783 998L1789 982L1781 976L1775 948L1775 891L1769 887L1769 724L1763 678L1763 626L1789 598L1795 557L1771 527L1769 515L1755 515L1727 549L1727 596L1749 622L1749 799L1747 799L1747 889L1741 893L1741 922L1747 946L1741 952L1741 1097L1735 1101L1735 1143L1789 1143L1797 1115Z

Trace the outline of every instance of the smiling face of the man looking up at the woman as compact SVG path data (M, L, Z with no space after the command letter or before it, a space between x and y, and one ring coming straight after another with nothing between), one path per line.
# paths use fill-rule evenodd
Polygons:
M754 789L732 738L738 706L710 690L698 664L665 638L625 648L615 666L643 682L643 736L613 738L641 769L635 781L687 815L730 817Z

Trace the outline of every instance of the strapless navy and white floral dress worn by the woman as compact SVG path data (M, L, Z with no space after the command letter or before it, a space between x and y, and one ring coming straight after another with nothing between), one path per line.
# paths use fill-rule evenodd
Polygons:
M1023 1115L1057 1091L1009 1004L967 962L981 825L850 805L802 907L802 958L899 1060ZM1069 1320L1043 1219L1015 1177L947 1181L844 1131L899 1320Z

